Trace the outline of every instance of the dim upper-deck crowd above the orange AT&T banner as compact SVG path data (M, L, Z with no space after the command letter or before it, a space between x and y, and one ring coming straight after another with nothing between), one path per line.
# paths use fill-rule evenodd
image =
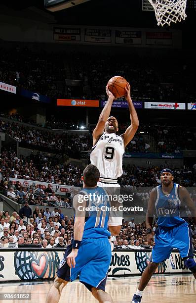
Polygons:
M119 75L130 81L135 100L190 101L196 97L191 59L182 64L170 60L168 64L168 58L160 54L132 55L134 60L130 53L116 60L111 53L32 51L28 44L1 48L0 81L54 98L105 100L103 88L111 77ZM79 86L66 85L65 79L77 79Z

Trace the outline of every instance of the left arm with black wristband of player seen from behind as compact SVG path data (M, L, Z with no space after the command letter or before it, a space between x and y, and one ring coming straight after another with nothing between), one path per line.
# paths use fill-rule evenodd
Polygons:
M67 256L67 263L70 267L75 267L75 258L78 255L78 249L81 245L81 240L84 231L85 221L85 207L86 202L81 194L75 195L73 199L73 206L75 208L75 223L74 223L74 241L72 246L72 252Z

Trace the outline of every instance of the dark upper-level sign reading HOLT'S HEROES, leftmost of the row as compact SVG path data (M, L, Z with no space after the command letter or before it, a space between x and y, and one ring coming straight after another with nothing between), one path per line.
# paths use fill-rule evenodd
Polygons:
M54 27L53 29L54 40L57 41L80 41L81 30L80 28L70 27Z

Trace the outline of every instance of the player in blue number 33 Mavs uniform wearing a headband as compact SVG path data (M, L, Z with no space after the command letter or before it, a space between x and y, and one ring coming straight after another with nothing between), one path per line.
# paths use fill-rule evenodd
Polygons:
M132 303L141 302L143 290L156 271L158 264L169 258L173 248L179 250L186 266L196 278L196 262L189 224L180 216L181 209L188 206L192 219L196 223L196 207L187 189L173 182L172 170L165 168L160 175L161 185L152 190L146 214L148 243L154 245L152 224L156 208L158 228L155 235L155 245L152 249L151 262L142 274Z

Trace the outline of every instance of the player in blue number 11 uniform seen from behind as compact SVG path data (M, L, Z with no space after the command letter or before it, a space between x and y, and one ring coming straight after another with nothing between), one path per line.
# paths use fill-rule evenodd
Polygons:
M118 235L120 227L110 226L110 201L106 191L97 186L100 173L90 164L83 171L83 190L73 199L75 208L74 239L59 264L47 303L58 303L64 286L79 276L100 303L113 302L105 292L107 273L111 262L111 232Z

